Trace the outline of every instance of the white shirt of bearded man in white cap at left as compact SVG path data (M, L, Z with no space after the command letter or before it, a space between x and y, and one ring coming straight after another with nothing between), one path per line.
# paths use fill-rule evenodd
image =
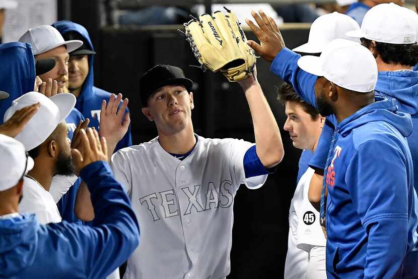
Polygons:
M61 215L51 194L31 178L24 177L23 181L19 213L35 213L41 225L60 222Z

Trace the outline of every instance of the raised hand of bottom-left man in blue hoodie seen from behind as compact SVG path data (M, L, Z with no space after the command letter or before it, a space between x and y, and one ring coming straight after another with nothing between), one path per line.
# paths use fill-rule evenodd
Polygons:
M107 161L107 144L104 137L99 137L95 129L80 129L80 149L71 149L73 163L77 169L82 170L85 166L96 161ZM81 151L80 151L81 150Z

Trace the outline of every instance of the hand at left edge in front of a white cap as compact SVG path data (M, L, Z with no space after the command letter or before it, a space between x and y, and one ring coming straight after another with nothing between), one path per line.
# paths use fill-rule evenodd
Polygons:
M19 135L29 120L36 114L40 103L34 103L25 106L16 111L16 113L3 125L0 125L0 134L4 134L9 137L16 137Z

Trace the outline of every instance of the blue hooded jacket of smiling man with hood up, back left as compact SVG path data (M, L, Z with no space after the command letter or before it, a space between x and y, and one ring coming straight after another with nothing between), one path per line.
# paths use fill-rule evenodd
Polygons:
M91 42L89 33L87 32L86 28L82 25L71 22L71 21L57 21L52 24L59 33L65 34L67 32L75 31L83 36L86 41L89 43L89 46L92 50L93 44ZM85 118L90 119L89 127L95 127L97 130L99 129L99 117L100 117L100 109L102 107L102 101L109 100L110 93L93 86L93 62L94 62L94 54L89 55L89 74L86 77L86 80L83 84L83 89L80 93L80 96L77 97L76 108L81 111ZM126 108L126 112L129 110ZM97 115L97 117L96 117ZM119 141L116 145L115 152L121 148L128 147L132 145L132 137L130 133L130 125L128 131L126 132L125 136Z

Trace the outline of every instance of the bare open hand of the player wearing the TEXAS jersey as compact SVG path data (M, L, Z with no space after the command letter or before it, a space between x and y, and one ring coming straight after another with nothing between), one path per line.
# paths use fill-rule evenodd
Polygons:
M102 102L102 109L100 110L100 136L105 137L109 145L115 145L123 138L128 131L130 119L129 113L125 114L128 105L128 99L124 99L122 105L119 103L122 100L122 94L112 94L109 98L109 103ZM110 149L109 149L110 150ZM109 152L113 152L110 150Z

